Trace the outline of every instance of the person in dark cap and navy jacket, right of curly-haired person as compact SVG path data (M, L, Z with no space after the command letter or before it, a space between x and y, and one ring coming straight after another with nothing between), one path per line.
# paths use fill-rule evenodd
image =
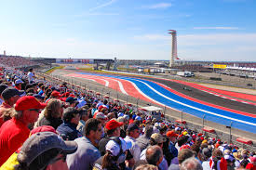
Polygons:
M58 126L57 132L64 140L74 140L83 135L76 130L80 121L80 112L73 107L68 107L63 114L63 123Z

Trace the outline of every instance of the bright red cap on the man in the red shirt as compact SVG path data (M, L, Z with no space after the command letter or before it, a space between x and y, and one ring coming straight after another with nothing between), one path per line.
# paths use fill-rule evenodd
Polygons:
M33 96L25 96L17 100L14 108L16 111L25 111L30 109L44 109L46 106L46 103L40 103Z

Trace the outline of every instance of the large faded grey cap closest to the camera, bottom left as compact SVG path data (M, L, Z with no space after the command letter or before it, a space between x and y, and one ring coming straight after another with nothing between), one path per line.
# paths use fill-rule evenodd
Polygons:
M29 165L35 158L50 149L60 149L66 154L71 154L77 150L77 143L64 141L53 132L38 132L23 143L17 160Z

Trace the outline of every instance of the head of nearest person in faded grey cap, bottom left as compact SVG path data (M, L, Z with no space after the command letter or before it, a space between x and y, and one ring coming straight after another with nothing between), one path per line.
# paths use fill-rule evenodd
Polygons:
M77 149L74 141L63 141L52 132L38 132L29 137L17 156L16 169L46 169L49 163L64 159Z

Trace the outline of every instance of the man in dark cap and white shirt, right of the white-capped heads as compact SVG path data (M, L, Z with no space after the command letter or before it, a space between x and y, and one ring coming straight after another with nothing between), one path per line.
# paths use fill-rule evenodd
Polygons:
M132 147L130 150L135 163L140 160L140 155L141 155L141 148L139 147L138 144L136 144L136 138L140 136L140 127L136 124L129 124L128 125L128 136L126 139L131 141Z

